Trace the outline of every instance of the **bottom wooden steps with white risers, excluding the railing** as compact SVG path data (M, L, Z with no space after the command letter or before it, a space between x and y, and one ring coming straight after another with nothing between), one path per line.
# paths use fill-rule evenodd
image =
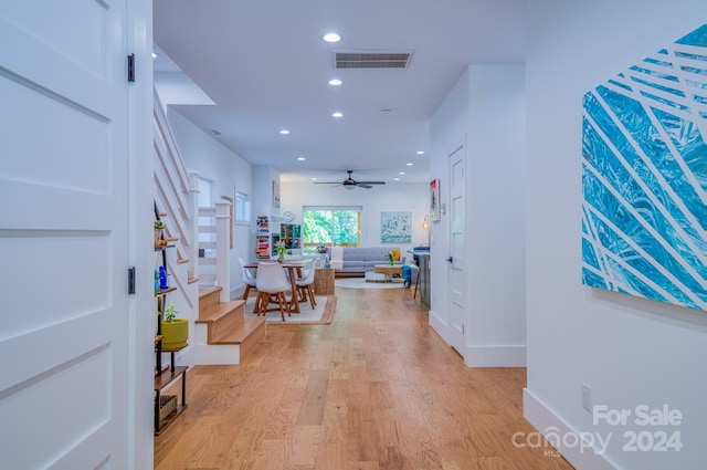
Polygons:
M245 316L245 301L221 302L221 288L199 289L196 321L200 364L240 364L265 338L265 317Z

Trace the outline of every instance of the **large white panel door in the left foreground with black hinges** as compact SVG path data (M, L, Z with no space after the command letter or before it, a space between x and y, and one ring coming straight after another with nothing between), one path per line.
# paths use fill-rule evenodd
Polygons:
M125 0L0 2L0 467L125 469Z

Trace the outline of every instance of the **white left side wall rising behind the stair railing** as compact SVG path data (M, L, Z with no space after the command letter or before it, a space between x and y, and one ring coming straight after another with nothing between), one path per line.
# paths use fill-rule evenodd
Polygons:
M235 199L235 191L253 194L251 164L232 153L211 135L193 125L179 112L167 109L167 118L175 134L187 168L197 170L203 178L215 182L215 197L230 196ZM253 215L253 210L251 210ZM242 289L239 257L244 260L253 258L253 237L250 226L236 224L233 233L233 250L230 253L231 296Z

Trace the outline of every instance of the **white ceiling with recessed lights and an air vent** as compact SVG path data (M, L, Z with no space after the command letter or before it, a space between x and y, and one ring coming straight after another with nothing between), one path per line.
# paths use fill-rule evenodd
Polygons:
M214 104L175 107L283 180L338 181L352 169L355 179L425 181L430 118L465 67L523 62L524 3L154 0L155 42L163 51L156 81L184 86L183 71L207 96L181 103ZM324 42L329 31L341 41ZM334 52L351 50L413 55L408 69L335 70ZM177 66L162 63L165 53ZM334 77L344 84L328 85ZM335 111L344 117L333 118Z

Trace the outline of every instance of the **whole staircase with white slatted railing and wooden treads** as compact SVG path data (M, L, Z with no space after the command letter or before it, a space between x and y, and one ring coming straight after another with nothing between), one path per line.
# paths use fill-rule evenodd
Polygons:
M187 366L240 364L265 337L265 318L246 317L245 303L230 300L231 203L198 207L199 175L184 167L157 92L154 125L155 205L175 248L167 259L170 284L177 288L171 299L180 316L189 318L189 345L180 359ZM200 240L200 233L211 233L210 241ZM212 255L200 257L203 250Z

